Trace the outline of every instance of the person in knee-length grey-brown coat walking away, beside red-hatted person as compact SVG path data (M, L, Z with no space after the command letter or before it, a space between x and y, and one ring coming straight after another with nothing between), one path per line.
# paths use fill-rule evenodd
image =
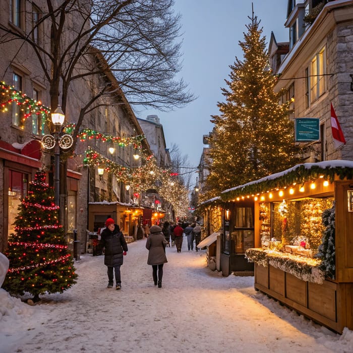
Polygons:
M154 285L158 284L158 288L162 287L163 265L168 262L165 255L166 245L167 241L164 238L162 228L158 225L152 225L150 236L146 241L146 249L148 250L147 265L152 265L153 282Z

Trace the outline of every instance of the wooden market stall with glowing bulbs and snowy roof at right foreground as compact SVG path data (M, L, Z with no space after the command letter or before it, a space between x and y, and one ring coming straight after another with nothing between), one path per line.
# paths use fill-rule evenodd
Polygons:
M254 200L255 289L336 332L353 329L353 162L296 165L221 197Z

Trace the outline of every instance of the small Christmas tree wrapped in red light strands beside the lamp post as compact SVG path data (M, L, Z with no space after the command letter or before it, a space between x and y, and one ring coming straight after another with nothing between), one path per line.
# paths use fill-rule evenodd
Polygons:
M28 196L19 206L15 231L5 252L10 268L3 288L13 295L29 292L36 302L43 293L62 293L76 283L73 258L44 171L38 171L29 185Z

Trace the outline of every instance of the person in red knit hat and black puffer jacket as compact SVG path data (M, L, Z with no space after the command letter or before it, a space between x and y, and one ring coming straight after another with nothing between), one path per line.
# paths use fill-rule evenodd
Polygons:
M112 218L105 221L106 228L101 233L100 244L105 248L104 265L108 267L108 288L113 286L113 269L115 272L116 289L121 289L122 280L120 266L123 265L124 255L128 251L123 233L119 225Z

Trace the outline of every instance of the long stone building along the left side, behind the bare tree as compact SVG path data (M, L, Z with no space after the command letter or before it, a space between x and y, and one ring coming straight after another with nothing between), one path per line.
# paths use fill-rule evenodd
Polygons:
M26 0L1 2L0 35L4 35L5 28L10 28L15 32L31 33L33 40L38 40L38 44L48 45L42 38L44 33L50 33L49 28L44 28L43 25L38 31L33 31L36 16L41 16L45 7L46 2L41 0L36 2L36 5ZM13 85L18 92L50 107L48 81L33 49L23 41L8 40L9 38L3 36L0 41L0 76L4 85ZM92 67L96 65L97 60L103 60L98 56L92 53ZM50 67L50 63L45 65ZM84 116L82 129L119 137L142 135L143 131L129 102L108 68L105 75L92 76L90 80L79 79L70 85L64 124L77 123L81 107L96 93L97 87L107 82L115 88L115 94L97 100L97 108ZM17 214L17 206L26 196L29 182L34 179L35 172L44 168L47 171L48 183L53 185L53 154L41 145L43 135L53 133L53 127L50 114L46 117L32 114L23 120L23 106L17 105L16 102L8 104L7 101L1 101L1 97L0 103L3 122L0 131L0 251L3 251L13 231L12 224ZM74 156L67 162L66 178L60 181L65 184L64 189L67 189L63 200L61 196L61 206L66 213L64 227L67 240L74 240L76 229L75 238L77 237L83 245L87 241L87 230L93 230L88 229L89 202L106 200L128 203L131 199L124 183L119 182L112 173L98 175L97 167L82 167L88 146L117 163L135 166L132 146L115 146L115 151L111 154L108 148L112 146L102 140L77 142ZM146 140L143 141L143 148L150 151Z

